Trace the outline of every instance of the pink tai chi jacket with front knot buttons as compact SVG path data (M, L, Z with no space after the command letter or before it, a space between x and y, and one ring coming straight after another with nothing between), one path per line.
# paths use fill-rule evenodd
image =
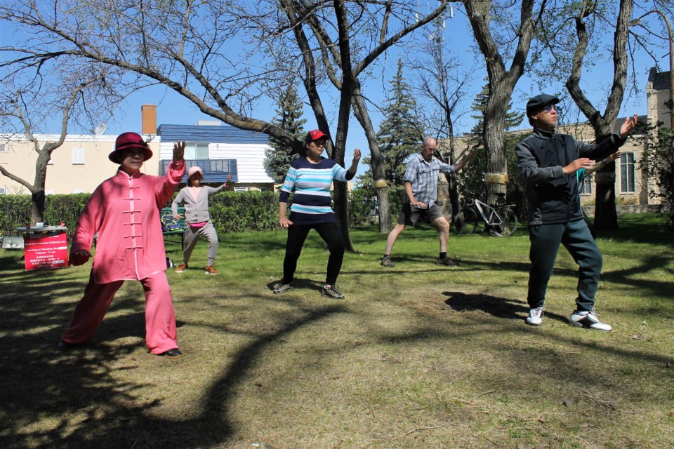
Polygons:
M171 161L166 176L117 171L96 187L77 221L70 253L90 250L93 281L109 283L145 279L166 271L159 210L171 199L185 175L185 161Z

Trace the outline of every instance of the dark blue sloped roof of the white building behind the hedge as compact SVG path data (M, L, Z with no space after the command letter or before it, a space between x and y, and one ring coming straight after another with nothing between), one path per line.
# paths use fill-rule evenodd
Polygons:
M269 136L230 125L160 125L157 135L162 142L210 142L233 144L265 144Z

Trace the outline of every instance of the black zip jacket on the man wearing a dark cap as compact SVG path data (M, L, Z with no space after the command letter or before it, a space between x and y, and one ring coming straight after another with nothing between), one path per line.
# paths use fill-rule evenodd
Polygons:
M576 173L564 175L564 166L581 157L603 158L625 142L612 134L597 145L587 145L567 134L534 128L515 147L517 167L527 180L529 226L582 220Z

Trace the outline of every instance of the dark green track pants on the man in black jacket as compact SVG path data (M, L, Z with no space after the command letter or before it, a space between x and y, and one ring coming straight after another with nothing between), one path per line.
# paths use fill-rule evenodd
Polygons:
M531 271L527 302L532 309L543 307L548 281L553 274L560 243L578 264L577 310L591 310L602 271L602 253L583 220L560 225L529 226Z

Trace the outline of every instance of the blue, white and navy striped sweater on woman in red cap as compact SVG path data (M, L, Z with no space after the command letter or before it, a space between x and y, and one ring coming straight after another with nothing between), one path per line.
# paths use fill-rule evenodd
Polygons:
M332 181L352 178L345 168L332 159L322 158L319 163L310 163L305 157L296 159L291 163L283 182L279 201L287 203L291 192L295 190L290 208L291 222L298 225L335 222L335 213L330 207Z

